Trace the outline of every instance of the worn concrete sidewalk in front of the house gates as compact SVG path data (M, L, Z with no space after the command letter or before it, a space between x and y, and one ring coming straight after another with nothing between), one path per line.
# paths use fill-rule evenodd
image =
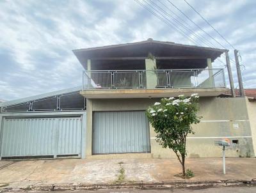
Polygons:
M4 183L10 189L45 184L114 183L120 162L124 163L124 181L130 183L182 180L174 176L181 171L175 158L24 160L0 162L0 187ZM186 168L191 169L195 177L182 181L251 181L256 178L256 158L227 158L226 167L227 174L224 175L221 158L188 158Z

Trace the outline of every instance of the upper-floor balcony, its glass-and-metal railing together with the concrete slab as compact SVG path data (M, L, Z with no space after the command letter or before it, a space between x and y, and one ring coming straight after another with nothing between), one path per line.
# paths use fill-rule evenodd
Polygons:
M226 90L223 69L91 70L83 72L81 94L87 98L163 97L195 92L218 96Z

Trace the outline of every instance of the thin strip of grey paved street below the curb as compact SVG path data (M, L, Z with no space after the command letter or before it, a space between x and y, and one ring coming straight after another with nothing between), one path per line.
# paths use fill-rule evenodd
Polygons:
M61 191L62 192L62 191ZM60 192L60 193L61 193ZM89 190L81 190L81 191L66 191L65 193L153 193L153 192L173 192L173 193L255 193L256 187L220 187L220 188L212 188L212 189L199 189L199 190L191 190L191 189L172 189L172 190L97 190L97 191L89 191ZM41 192L40 192L41 193ZM44 192L42 192L44 193ZM64 193L64 192L62 192Z

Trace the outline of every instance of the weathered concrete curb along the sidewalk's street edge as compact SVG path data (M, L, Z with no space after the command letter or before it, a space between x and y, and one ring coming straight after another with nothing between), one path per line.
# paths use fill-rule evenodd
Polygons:
M3 187L0 192L56 191L56 190L99 190L99 189L200 189L209 187L256 186L252 180L176 180L176 181L135 181L122 183L58 183L38 184L26 188Z

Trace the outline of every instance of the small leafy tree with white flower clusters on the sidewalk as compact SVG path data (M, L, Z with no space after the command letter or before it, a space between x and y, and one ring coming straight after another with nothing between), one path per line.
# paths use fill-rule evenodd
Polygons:
M157 134L157 143L174 151L182 165L182 176L186 176L186 137L195 134L191 124L199 123L201 118L196 115L199 110L198 98L198 94L190 97L179 95L177 99L162 98L161 102L147 109L148 120Z

